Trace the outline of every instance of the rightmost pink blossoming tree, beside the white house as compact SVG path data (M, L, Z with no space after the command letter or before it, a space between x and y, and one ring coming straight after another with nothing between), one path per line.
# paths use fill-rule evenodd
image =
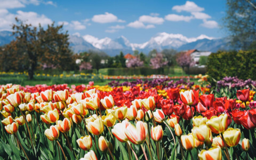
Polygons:
M185 67L187 67L189 71L189 67L195 65L195 61L193 60L193 58L190 56L190 54L187 54L186 52L180 52L179 54L177 54L176 61L183 70Z

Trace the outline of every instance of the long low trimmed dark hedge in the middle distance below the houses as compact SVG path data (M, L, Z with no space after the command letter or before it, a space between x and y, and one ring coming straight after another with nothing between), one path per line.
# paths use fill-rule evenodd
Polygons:
M129 75L154 75L154 74L174 74L173 68L166 67L152 69L150 67L141 68L108 68L107 74L110 76L129 76Z

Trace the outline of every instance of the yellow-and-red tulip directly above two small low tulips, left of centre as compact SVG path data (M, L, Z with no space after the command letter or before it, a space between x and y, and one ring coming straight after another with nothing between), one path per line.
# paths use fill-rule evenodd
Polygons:
M89 122L86 125L86 128L88 129L89 132L91 132L94 135L99 135L103 132L104 130L104 125L103 122L101 120L101 118L97 118L95 121L93 122Z

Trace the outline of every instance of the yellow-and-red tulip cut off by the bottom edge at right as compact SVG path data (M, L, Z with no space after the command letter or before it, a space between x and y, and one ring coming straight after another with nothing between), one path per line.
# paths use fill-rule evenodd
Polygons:
M200 160L207 160L207 159L216 159L216 160L221 160L222 155L221 155L221 149L220 147L214 147L210 148L209 150L202 150L199 154L198 157Z

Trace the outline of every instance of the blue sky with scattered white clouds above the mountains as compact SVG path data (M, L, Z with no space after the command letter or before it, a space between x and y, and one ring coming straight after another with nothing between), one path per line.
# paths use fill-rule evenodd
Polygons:
M98 38L125 36L143 43L166 32L197 37L225 37L220 29L223 0L215 1L44 1L0 0L0 29L10 29L14 17L46 26L65 24L69 34Z

